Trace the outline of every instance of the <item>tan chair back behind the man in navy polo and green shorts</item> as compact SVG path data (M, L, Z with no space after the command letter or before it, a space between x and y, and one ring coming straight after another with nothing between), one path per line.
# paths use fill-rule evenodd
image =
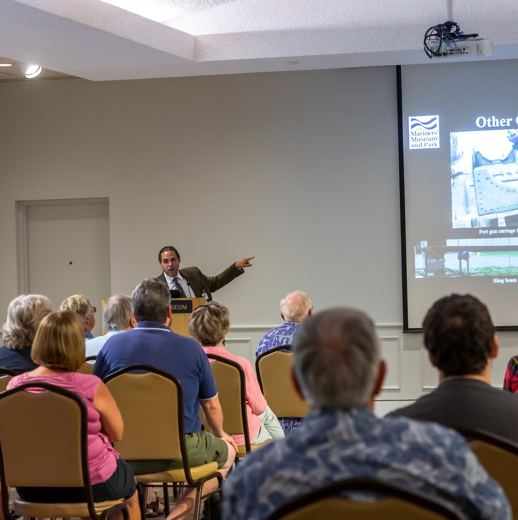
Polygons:
M124 436L114 444L125 460L182 459L180 435L185 440L183 392L179 382L153 367L139 365L147 373L127 367L110 374L105 383L115 399L124 420ZM150 419L157 410L150 406L159 402L160 424ZM178 403L180 402L180 409Z

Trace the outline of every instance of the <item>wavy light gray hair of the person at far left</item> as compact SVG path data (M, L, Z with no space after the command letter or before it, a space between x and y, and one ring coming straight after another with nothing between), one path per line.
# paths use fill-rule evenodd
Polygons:
M2 327L4 344L9 348L32 346L40 321L52 312L50 300L41 294L24 294L7 308L7 321Z

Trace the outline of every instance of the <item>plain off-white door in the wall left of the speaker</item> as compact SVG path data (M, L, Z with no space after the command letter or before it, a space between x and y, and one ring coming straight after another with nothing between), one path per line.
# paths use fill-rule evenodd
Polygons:
M29 292L50 298L52 308L84 294L102 334L101 300L111 295L108 202L30 205L27 208Z

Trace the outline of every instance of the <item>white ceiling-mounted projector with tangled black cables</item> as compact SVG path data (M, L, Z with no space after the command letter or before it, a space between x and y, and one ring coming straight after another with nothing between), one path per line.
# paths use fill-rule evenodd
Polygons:
M424 52L429 58L450 56L489 56L493 54L493 40L478 34L464 34L453 22L453 0L446 0L446 22L433 25L424 33Z

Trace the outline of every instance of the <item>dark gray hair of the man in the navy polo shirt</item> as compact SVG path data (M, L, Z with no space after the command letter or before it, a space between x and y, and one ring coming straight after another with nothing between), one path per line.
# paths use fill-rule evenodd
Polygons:
M164 282L155 278L147 278L133 289L131 299L138 322L165 323L167 307L171 305L171 292Z

